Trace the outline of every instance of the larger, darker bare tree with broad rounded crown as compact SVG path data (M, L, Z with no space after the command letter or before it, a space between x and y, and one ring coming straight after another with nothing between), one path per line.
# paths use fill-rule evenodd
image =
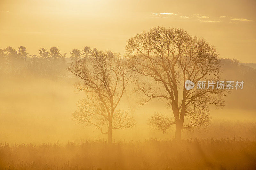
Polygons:
M209 89L185 88L186 80L197 84L220 79L218 53L204 39L191 37L183 29L156 27L130 38L126 57L131 70L147 77L136 82L135 92L146 96L141 104L161 98L172 108L174 122L154 115L151 124L163 132L175 124L177 140L181 139L182 129L209 125L208 104L224 106L225 89L218 89L216 85Z

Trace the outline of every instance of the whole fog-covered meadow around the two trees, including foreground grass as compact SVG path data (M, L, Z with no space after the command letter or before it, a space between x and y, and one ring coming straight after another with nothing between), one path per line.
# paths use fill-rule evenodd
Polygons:
M256 167L255 105L247 102L253 95L230 94L226 107L211 108L207 129L183 130L177 142L174 129L162 134L147 125L154 112L168 115L170 108L161 100L139 106L128 93L120 107L129 109L129 98L134 102L136 124L114 131L113 144L108 144L106 135L72 120L76 101L84 97L74 92L74 78L1 79L0 170ZM239 105L243 102L248 107Z

